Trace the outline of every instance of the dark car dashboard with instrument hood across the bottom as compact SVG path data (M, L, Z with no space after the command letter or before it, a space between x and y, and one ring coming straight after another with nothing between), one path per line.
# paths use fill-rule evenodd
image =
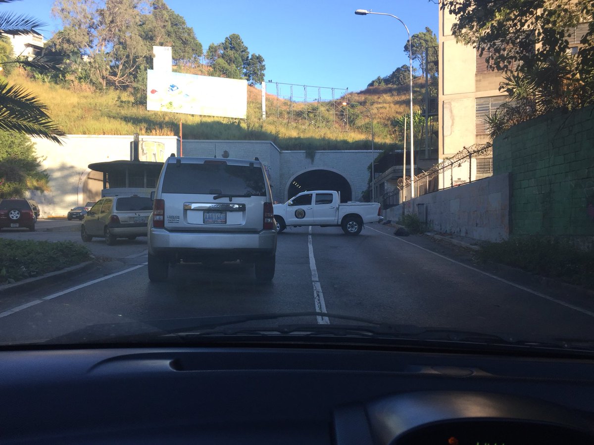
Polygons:
M0 442L593 444L593 383L552 354L5 348Z

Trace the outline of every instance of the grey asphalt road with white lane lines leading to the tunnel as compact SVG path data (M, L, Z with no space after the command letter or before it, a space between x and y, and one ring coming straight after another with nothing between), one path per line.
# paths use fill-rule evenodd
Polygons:
M81 242L79 222L40 221L16 239ZM72 227L70 229L69 227ZM50 230L43 230L44 228ZM40 342L98 323L144 322L229 314L317 311L282 323L343 323L324 312L378 322L504 333L518 339L594 338L592 298L542 284L513 269L477 266L469 252L424 236L392 235L371 224L359 236L340 228L279 234L276 275L255 282L253 268L179 265L169 280L147 278L146 239L86 243L97 266L67 280L0 295L0 342ZM258 323L274 325L275 320Z

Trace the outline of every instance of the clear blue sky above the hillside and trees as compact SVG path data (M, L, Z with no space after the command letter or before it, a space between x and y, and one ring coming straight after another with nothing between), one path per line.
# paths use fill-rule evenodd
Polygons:
M202 43L222 42L239 34L250 52L260 53L266 80L298 85L364 89L378 75L408 64L403 51L405 27L392 17L355 15L371 9L397 15L410 34L430 27L438 31L438 5L428 0L165 0ZM53 0L0 4L11 11L48 23L48 39L59 29L50 17Z

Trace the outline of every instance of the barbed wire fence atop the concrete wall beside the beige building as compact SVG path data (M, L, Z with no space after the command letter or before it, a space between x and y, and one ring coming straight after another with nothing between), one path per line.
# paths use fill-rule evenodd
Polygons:
M492 154L493 147L490 142L464 147L453 156L435 164L431 169L416 175L415 196L422 196L426 193L437 192L492 176ZM473 163L473 159L477 162ZM479 166L479 159L486 162ZM383 208L387 209L401 202L409 201L410 186L410 176L398 179L396 189L384 193Z

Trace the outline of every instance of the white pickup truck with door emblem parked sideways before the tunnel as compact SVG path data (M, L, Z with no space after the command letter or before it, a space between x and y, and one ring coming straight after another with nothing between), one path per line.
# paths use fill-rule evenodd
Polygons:
M378 202L340 202L334 190L313 190L293 196L285 204L274 205L277 231L287 226L340 226L347 235L358 235L365 222L381 222Z

